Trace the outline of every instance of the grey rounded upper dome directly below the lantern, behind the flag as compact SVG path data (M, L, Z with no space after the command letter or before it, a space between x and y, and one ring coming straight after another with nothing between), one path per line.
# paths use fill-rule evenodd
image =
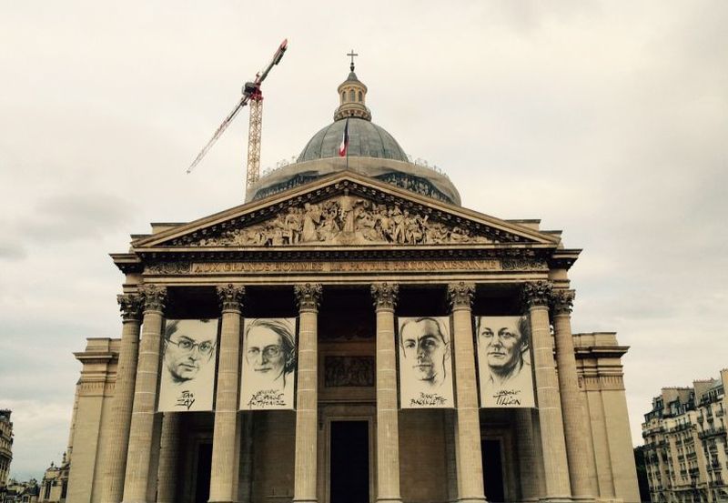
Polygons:
M349 117L349 157L377 157L408 162L407 154L387 130L365 119ZM299 163L338 157L347 120L340 119L321 129L303 148Z

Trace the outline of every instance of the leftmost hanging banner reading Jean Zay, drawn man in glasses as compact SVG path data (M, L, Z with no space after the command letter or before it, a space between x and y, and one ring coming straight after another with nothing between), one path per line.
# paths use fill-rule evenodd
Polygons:
M212 410L217 325L217 319L167 319L162 341L157 410Z

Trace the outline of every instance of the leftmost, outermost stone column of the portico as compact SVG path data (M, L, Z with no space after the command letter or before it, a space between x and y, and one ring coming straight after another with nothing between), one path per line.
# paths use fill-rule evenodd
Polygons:
M124 492L126 448L129 442L131 410L134 404L136 358L139 355L139 329L143 299L138 294L116 296L122 317L121 348L114 386L114 428L109 429L104 467L102 503L119 503Z

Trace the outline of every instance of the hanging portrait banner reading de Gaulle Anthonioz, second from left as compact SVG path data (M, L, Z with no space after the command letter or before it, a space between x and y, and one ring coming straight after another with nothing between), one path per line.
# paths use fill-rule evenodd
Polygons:
M240 409L292 409L296 383L296 318L246 318Z

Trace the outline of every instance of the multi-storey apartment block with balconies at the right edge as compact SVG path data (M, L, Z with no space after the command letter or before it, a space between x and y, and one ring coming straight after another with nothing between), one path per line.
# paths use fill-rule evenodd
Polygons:
M642 438L652 501L728 500L725 410L728 369L693 387L663 387L644 415Z

